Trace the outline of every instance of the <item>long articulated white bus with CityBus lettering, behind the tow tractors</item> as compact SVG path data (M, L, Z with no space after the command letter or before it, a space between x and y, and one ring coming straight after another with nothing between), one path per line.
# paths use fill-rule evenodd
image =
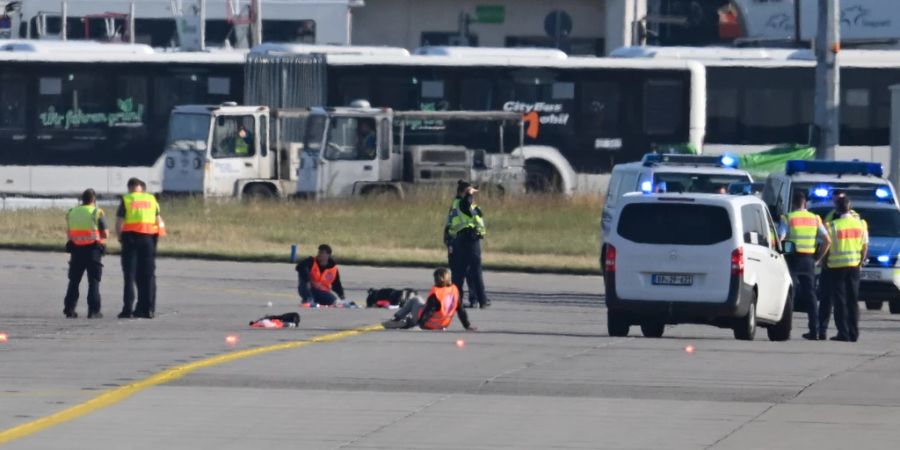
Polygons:
M532 179L596 190L595 174L654 147L700 148L705 77L692 61L572 58L555 51L266 45L262 54L326 54L324 85L298 80L326 106L358 99L395 110L507 110L528 116ZM155 51L144 45L0 43L0 193L121 193L138 176L160 189L175 105L244 103L245 54ZM307 80L308 81L308 80ZM313 105L280 105L313 106ZM410 123L407 139L479 140L476 129ZM493 132L492 132L493 136ZM491 140L493 141L493 139ZM510 139L507 142L513 142ZM486 141L487 142L487 141ZM574 176L568 172L587 174Z

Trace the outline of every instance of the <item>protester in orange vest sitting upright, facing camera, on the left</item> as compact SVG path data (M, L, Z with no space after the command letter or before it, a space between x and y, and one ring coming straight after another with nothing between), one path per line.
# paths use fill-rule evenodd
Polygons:
M315 257L300 261L296 270L299 278L297 292L305 306L332 306L338 298L344 300L341 274L328 244L320 245Z

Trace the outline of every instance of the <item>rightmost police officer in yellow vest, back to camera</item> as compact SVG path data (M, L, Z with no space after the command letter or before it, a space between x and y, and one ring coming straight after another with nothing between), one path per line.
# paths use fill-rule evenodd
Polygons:
M856 342L859 339L859 268L866 260L869 233L866 222L852 213L849 198L840 197L835 205L837 217L828 223L833 244L822 272L822 292L834 307L838 334L831 340ZM822 308L819 319L819 333L824 336L828 309Z

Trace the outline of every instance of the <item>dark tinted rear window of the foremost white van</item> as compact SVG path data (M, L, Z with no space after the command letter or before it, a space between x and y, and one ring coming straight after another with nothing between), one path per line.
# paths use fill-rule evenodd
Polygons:
M632 203L616 231L639 244L712 245L731 238L731 219L720 206Z

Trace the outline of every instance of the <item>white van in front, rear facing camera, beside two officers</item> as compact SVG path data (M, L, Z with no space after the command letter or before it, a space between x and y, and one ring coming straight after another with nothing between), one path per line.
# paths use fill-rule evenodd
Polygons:
M627 194L606 236L610 336L700 323L752 340L791 335L792 283L765 203L752 195Z

